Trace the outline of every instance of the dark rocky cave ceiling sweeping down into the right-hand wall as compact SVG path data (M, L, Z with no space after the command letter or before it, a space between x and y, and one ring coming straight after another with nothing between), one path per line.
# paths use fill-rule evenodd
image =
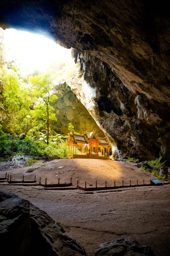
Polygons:
M92 116L110 140L123 155L151 159L161 154L170 160L166 5L148 0L1 0L0 27L40 32L77 49L74 57L83 76L96 88ZM79 90L77 95L81 100Z

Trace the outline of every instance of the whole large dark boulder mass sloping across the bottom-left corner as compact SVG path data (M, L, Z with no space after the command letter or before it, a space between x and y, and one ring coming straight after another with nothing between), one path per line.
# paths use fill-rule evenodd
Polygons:
M46 212L3 191L0 241L8 255L86 256L84 248Z

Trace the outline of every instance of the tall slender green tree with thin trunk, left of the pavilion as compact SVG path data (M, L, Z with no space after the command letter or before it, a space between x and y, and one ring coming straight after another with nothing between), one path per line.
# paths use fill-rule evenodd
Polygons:
M30 81L34 85L34 95L38 98L37 104L34 108L36 110L34 115L37 115L39 119L44 120L46 123L48 145L50 120L57 120L54 114L54 108L50 105L51 102L58 99L56 95L52 94L54 78L50 73L45 73L40 76L31 77Z

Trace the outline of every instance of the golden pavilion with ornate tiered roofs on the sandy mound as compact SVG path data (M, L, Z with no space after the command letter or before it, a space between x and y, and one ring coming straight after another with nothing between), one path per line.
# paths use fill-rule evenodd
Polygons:
M83 134L69 133L68 158L110 159L111 145L107 138L97 136L96 129Z

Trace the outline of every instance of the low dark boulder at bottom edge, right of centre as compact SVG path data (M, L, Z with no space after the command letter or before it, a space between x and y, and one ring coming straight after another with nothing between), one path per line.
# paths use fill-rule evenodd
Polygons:
M154 256L150 246L140 245L135 239L117 239L100 244L95 256Z

